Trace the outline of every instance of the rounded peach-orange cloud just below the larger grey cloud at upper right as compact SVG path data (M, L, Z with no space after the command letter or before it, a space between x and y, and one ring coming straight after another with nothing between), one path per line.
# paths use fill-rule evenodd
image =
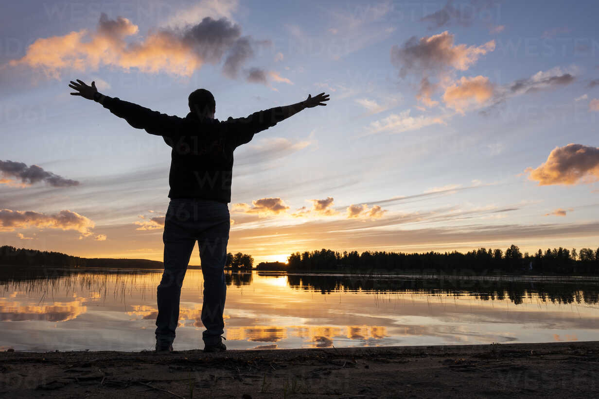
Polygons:
M494 95L495 86L489 78L477 76L473 78L462 77L459 81L447 87L443 95L443 102L450 108L464 113L471 105L483 105Z

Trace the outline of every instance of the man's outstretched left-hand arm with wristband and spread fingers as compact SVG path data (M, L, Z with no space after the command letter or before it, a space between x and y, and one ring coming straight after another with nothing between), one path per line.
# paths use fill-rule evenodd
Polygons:
M158 111L152 111L152 109L119 98L104 96L96 89L95 82L92 82L92 86L87 86L83 81L77 79L77 82L71 81L69 87L77 90L71 95L95 100L104 105L104 108L108 108L117 117L124 118L131 126L144 129L152 135L173 136L181 134L184 130L183 118L161 114ZM205 122L208 123L209 121Z

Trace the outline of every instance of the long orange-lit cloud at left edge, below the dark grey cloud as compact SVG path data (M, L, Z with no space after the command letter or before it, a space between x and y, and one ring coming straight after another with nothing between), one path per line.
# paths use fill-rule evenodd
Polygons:
M60 229L75 230L81 236L92 235L90 231L95 224L92 220L68 210L60 211L58 214L46 215L33 211L11 211L0 210L0 232L13 232L15 229Z

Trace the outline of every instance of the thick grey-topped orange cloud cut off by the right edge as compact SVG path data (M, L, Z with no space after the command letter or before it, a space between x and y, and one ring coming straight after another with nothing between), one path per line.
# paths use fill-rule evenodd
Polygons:
M574 185L599 180L599 148L582 144L555 147L546 162L536 169L528 167L528 178L539 185Z

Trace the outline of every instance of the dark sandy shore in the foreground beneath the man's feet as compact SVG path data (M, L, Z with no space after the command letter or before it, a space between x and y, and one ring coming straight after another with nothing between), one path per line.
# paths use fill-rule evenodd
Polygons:
M599 342L204 354L0 352L3 398L599 396Z

